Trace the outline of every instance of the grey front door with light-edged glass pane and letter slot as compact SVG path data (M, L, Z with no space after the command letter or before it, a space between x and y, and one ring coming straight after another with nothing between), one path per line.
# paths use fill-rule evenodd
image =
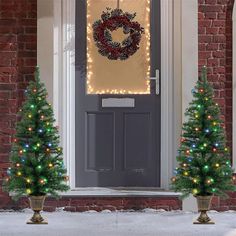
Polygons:
M94 22L117 7L136 12L143 27L139 48L124 58L94 38ZM105 32L122 45L133 33L124 28ZM160 69L159 0L77 0L75 55L76 187L159 187L160 94L151 79Z

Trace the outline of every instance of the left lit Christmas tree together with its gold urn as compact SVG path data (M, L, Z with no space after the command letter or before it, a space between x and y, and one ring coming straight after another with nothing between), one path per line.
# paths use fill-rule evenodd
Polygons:
M26 101L19 112L20 121L10 155L11 167L4 183L5 190L13 192L16 199L29 197L34 215L28 223L33 224L47 223L40 215L47 195L58 196L57 191L69 189L65 183L67 176L58 130L46 96L37 67L35 80L29 83Z

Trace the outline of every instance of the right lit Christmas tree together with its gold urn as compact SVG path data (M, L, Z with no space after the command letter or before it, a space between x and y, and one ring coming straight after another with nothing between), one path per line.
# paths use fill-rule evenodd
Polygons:
M195 223L209 224L207 216L214 195L226 196L225 191L235 190L229 150L225 146L225 132L220 119L220 108L213 100L213 89L203 68L201 79L192 91L193 101L186 110L188 121L183 133L176 176L172 178L175 191L182 197L193 194L201 212Z

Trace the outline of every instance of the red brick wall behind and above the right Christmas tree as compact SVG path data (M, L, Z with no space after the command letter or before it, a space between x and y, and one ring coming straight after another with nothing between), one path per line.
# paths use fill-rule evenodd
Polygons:
M232 148L232 11L234 0L198 0L199 70L208 78L221 105L227 141Z

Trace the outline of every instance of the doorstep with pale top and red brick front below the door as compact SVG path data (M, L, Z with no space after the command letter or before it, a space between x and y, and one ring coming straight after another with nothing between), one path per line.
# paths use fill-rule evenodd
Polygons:
M60 206L64 206L65 211L78 212L146 208L169 211L182 209L179 195L160 188L78 188L63 194L66 205Z

